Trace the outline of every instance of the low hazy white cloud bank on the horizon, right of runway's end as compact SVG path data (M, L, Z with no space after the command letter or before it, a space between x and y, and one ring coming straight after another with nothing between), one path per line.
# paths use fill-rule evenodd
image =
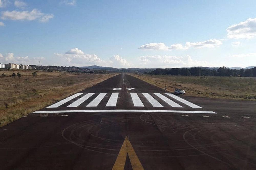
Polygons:
M173 67L190 67L190 66L207 66L206 61L194 61L189 55L185 56L141 56L138 57L142 67L151 68L173 68Z

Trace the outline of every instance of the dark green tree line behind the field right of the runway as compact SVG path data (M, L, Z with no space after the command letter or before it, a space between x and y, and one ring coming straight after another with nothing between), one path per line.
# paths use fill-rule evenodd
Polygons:
M205 69L201 67L193 68L172 68L172 69L155 69L144 74L155 75L194 75L194 76L240 76L240 77L256 77L256 67L250 69L229 69L220 67L216 69Z

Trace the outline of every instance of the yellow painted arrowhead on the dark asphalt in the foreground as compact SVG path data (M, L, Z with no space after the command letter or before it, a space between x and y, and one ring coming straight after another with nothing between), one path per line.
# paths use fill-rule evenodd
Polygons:
M136 155L136 152L134 151L132 144L129 141L127 136L124 139L124 143L119 151L119 154L116 158L116 161L115 161L115 164L114 164L112 170L123 170L124 169L127 153L130 158L132 169L133 170L144 170L144 168L143 168L138 156Z

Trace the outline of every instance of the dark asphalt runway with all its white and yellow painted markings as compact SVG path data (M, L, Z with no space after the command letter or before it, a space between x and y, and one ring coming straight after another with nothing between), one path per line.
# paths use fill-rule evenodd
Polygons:
M256 169L255 113L120 74L1 127L0 169Z

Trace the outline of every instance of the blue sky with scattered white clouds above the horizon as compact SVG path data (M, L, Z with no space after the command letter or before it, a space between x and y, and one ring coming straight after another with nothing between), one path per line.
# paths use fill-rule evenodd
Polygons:
M0 62L256 65L256 1L0 0Z

